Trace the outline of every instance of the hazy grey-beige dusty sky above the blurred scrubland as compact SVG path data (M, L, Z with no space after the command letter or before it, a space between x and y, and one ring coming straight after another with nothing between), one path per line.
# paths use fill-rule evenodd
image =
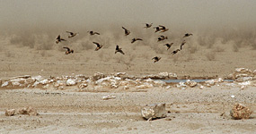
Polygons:
M255 0L0 0L0 28L108 29L145 22L172 28L256 26Z

